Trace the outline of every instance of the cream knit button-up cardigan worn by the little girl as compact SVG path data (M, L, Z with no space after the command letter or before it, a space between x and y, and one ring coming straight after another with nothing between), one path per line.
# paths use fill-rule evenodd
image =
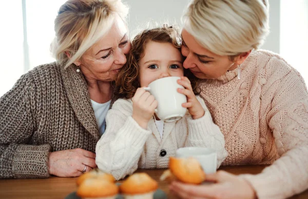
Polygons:
M119 99L107 113L107 129L96 147L96 163L99 169L111 173L119 180L132 174L137 168L167 168L169 156L175 156L181 147L200 146L216 149L217 167L227 156L224 137L198 97L205 114L192 120L189 114L177 122L165 122L163 138L152 118L143 129L131 117L131 100ZM161 150L166 155L161 157Z

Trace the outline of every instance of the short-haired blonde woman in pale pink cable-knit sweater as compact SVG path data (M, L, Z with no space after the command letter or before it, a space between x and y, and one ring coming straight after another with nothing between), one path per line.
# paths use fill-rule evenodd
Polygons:
M174 183L182 198L285 198L308 188L308 93L279 55L257 50L268 2L194 0L184 15L183 63L225 137L222 165L272 164L258 175L207 175L214 185ZM296 50L296 49L295 49Z

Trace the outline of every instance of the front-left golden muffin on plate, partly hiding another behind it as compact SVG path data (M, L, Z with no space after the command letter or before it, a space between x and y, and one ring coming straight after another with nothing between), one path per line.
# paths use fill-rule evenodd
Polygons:
M119 187L112 182L100 178L85 179L76 194L83 199L114 199L119 193Z

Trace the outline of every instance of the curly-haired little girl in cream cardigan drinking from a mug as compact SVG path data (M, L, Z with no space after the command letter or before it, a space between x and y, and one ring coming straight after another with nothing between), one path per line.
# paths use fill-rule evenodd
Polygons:
M131 42L127 64L122 68L114 102L106 116L106 131L97 143L99 169L119 180L137 168L167 168L169 156L181 147L207 147L217 151L218 165L227 156L224 136L214 124L197 93L197 81L183 68L181 39L177 30L164 26L144 30ZM183 77L184 74L186 77ZM181 77L178 83L187 96L189 114L175 122L164 122L155 115L158 102L145 91L154 80ZM191 83L190 83L191 82Z

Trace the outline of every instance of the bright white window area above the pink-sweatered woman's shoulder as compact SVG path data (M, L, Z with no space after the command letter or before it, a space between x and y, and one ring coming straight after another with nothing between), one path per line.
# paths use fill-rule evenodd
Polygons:
M308 0L281 0L280 55L308 84Z

